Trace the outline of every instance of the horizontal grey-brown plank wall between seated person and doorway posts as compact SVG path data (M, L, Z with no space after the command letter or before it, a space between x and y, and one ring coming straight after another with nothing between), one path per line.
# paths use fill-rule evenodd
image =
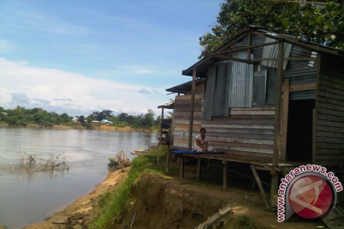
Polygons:
M226 153L272 158L275 107L230 108L229 117L202 120L209 145Z

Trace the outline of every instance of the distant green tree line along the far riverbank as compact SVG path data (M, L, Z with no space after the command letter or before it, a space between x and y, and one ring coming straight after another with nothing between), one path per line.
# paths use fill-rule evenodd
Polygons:
M87 117L75 116L76 122L87 124L92 121L102 121L107 119L111 121L114 126L131 126L131 127L154 127L160 125L161 116L154 119L154 111L148 110L146 114L141 115L128 115L127 113L120 113L113 115L113 111L104 110L101 112L92 112ZM72 123L73 116L67 113L61 115L56 112L47 112L42 108L25 109L24 107L17 106L15 109L4 109L0 107L0 122L5 122L11 125L27 125L38 124L45 126L52 126L55 124Z

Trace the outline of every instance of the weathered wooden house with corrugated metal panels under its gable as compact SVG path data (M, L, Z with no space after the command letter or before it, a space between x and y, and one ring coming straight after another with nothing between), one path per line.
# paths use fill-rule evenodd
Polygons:
M175 98L173 148L193 148L204 127L221 160L342 170L343 51L248 26L182 75L192 81L168 89L184 93Z

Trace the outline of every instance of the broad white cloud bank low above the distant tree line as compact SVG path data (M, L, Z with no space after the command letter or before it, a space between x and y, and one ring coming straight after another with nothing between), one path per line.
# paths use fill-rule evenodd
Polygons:
M130 114L159 113L158 105L168 101L163 89L123 84L91 78L73 72L28 66L25 62L0 59L0 106L42 107L69 115L88 115L91 111L109 109ZM143 94L144 95L143 95ZM19 104L22 103L22 104Z

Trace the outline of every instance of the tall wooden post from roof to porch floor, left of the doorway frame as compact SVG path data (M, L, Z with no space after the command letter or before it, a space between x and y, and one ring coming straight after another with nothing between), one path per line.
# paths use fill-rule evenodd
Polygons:
M275 129L273 138L273 167L278 167L278 145L280 137L281 127L281 82L283 77L283 56L284 56L284 42L278 43L278 55L277 55L277 79L276 79L276 98L275 98Z

